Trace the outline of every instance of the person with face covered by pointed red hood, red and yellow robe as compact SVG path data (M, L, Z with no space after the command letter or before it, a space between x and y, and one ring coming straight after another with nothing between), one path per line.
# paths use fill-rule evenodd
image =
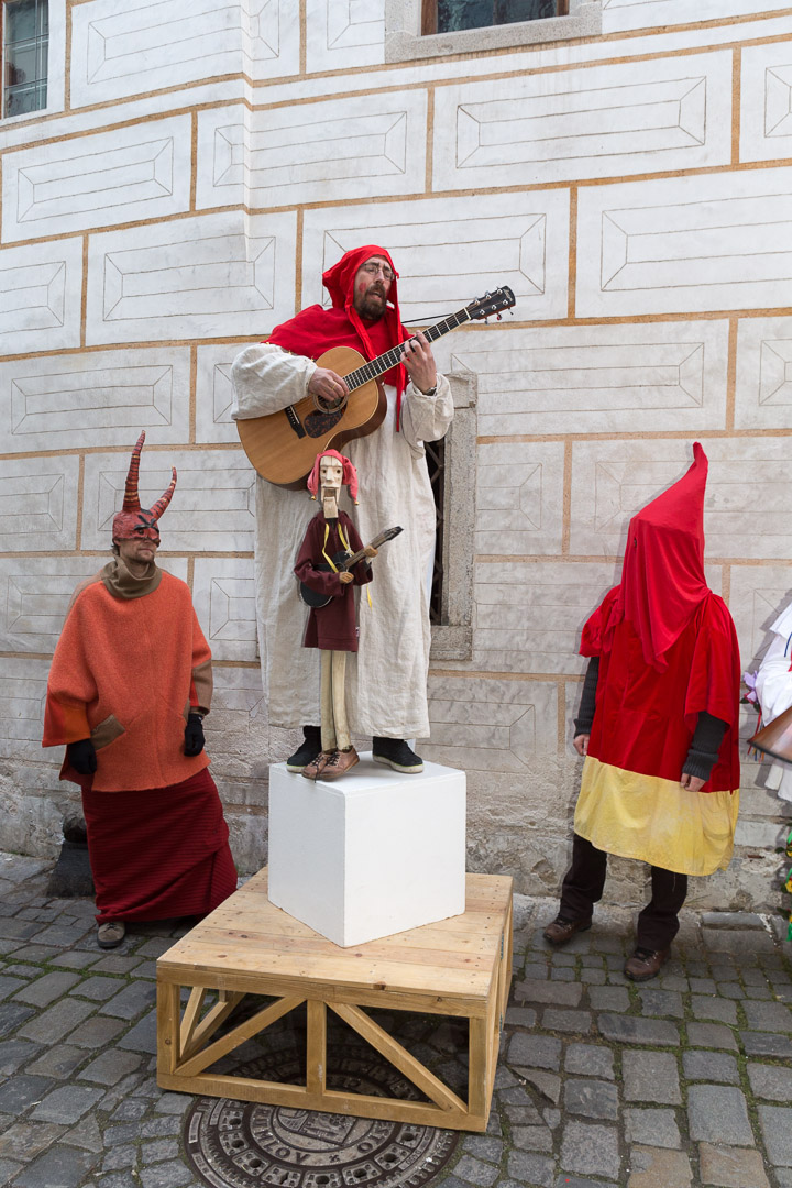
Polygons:
M607 855L652 868L625 965L634 981L669 958L688 876L729 865L740 798L740 652L726 604L704 576L708 461L693 463L629 524L621 583L583 628L590 657L574 745L585 756L572 865L544 936L591 927Z

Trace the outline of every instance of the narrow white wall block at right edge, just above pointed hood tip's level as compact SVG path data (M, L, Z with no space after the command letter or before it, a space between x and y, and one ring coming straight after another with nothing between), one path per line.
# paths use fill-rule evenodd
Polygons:
M792 317L746 317L737 331L737 429L792 429Z

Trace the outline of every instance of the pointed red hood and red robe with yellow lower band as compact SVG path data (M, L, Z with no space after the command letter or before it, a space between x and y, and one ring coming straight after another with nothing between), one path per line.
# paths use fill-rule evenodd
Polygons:
M704 576L708 461L698 442L693 455L631 520L621 583L583 628L581 655L600 657L600 676L575 828L609 853L705 874L731 855L740 652ZM691 794L679 779L703 712L727 728L709 781Z

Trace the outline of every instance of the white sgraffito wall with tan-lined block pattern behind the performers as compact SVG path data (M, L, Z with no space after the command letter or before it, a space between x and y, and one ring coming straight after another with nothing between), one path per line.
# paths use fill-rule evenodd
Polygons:
M144 499L179 472L161 563L211 642L234 852L266 859L293 735L261 688L230 365L360 242L393 252L405 318L518 298L436 349L475 501L448 526L462 586L420 750L468 772L473 868L556 890L581 626L692 441L745 668L792 598L792 4L601 0L597 36L404 62L393 10L53 0L51 107L0 122L0 846L57 846L74 792L39 746L47 668L145 428ZM696 903L777 902L764 783L746 763L735 860ZM641 872L615 865L636 902Z

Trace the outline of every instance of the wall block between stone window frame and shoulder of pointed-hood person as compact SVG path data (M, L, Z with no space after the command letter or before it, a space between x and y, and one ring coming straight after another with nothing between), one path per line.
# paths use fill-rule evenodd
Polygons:
M613 562L479 562L473 668L582 672L581 630L620 577L621 564ZM552 731L555 737L555 719Z

